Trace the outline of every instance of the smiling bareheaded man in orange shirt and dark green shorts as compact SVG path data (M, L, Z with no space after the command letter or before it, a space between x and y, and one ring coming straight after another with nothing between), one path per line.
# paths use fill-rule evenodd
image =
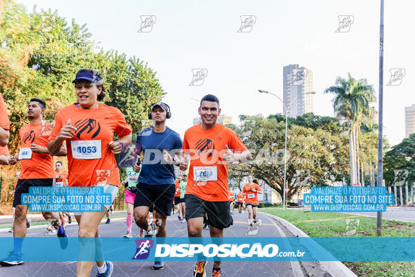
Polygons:
M183 139L180 169L187 170L190 161L185 194L189 237L202 236L205 213L208 213L210 236L223 237L223 228L233 224L229 211L228 163L252 159L237 134L216 123L220 114L219 99L212 94L204 96L199 107L202 123L187 129ZM193 276L205 276L205 265L206 261L196 262ZM220 261L214 261L212 276L221 276Z

